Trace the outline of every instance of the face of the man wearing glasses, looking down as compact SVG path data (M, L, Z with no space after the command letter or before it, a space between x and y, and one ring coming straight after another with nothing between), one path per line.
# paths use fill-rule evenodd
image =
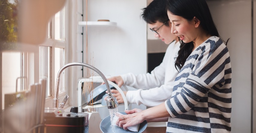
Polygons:
M154 33L156 38L161 39L163 42L165 42L165 44L170 44L177 36L175 36L174 34L171 33L170 21L168 21L166 23L168 23L169 26L163 25L162 22L157 21L154 24L149 24L149 27L152 30L156 30L156 32L158 33L158 34Z

